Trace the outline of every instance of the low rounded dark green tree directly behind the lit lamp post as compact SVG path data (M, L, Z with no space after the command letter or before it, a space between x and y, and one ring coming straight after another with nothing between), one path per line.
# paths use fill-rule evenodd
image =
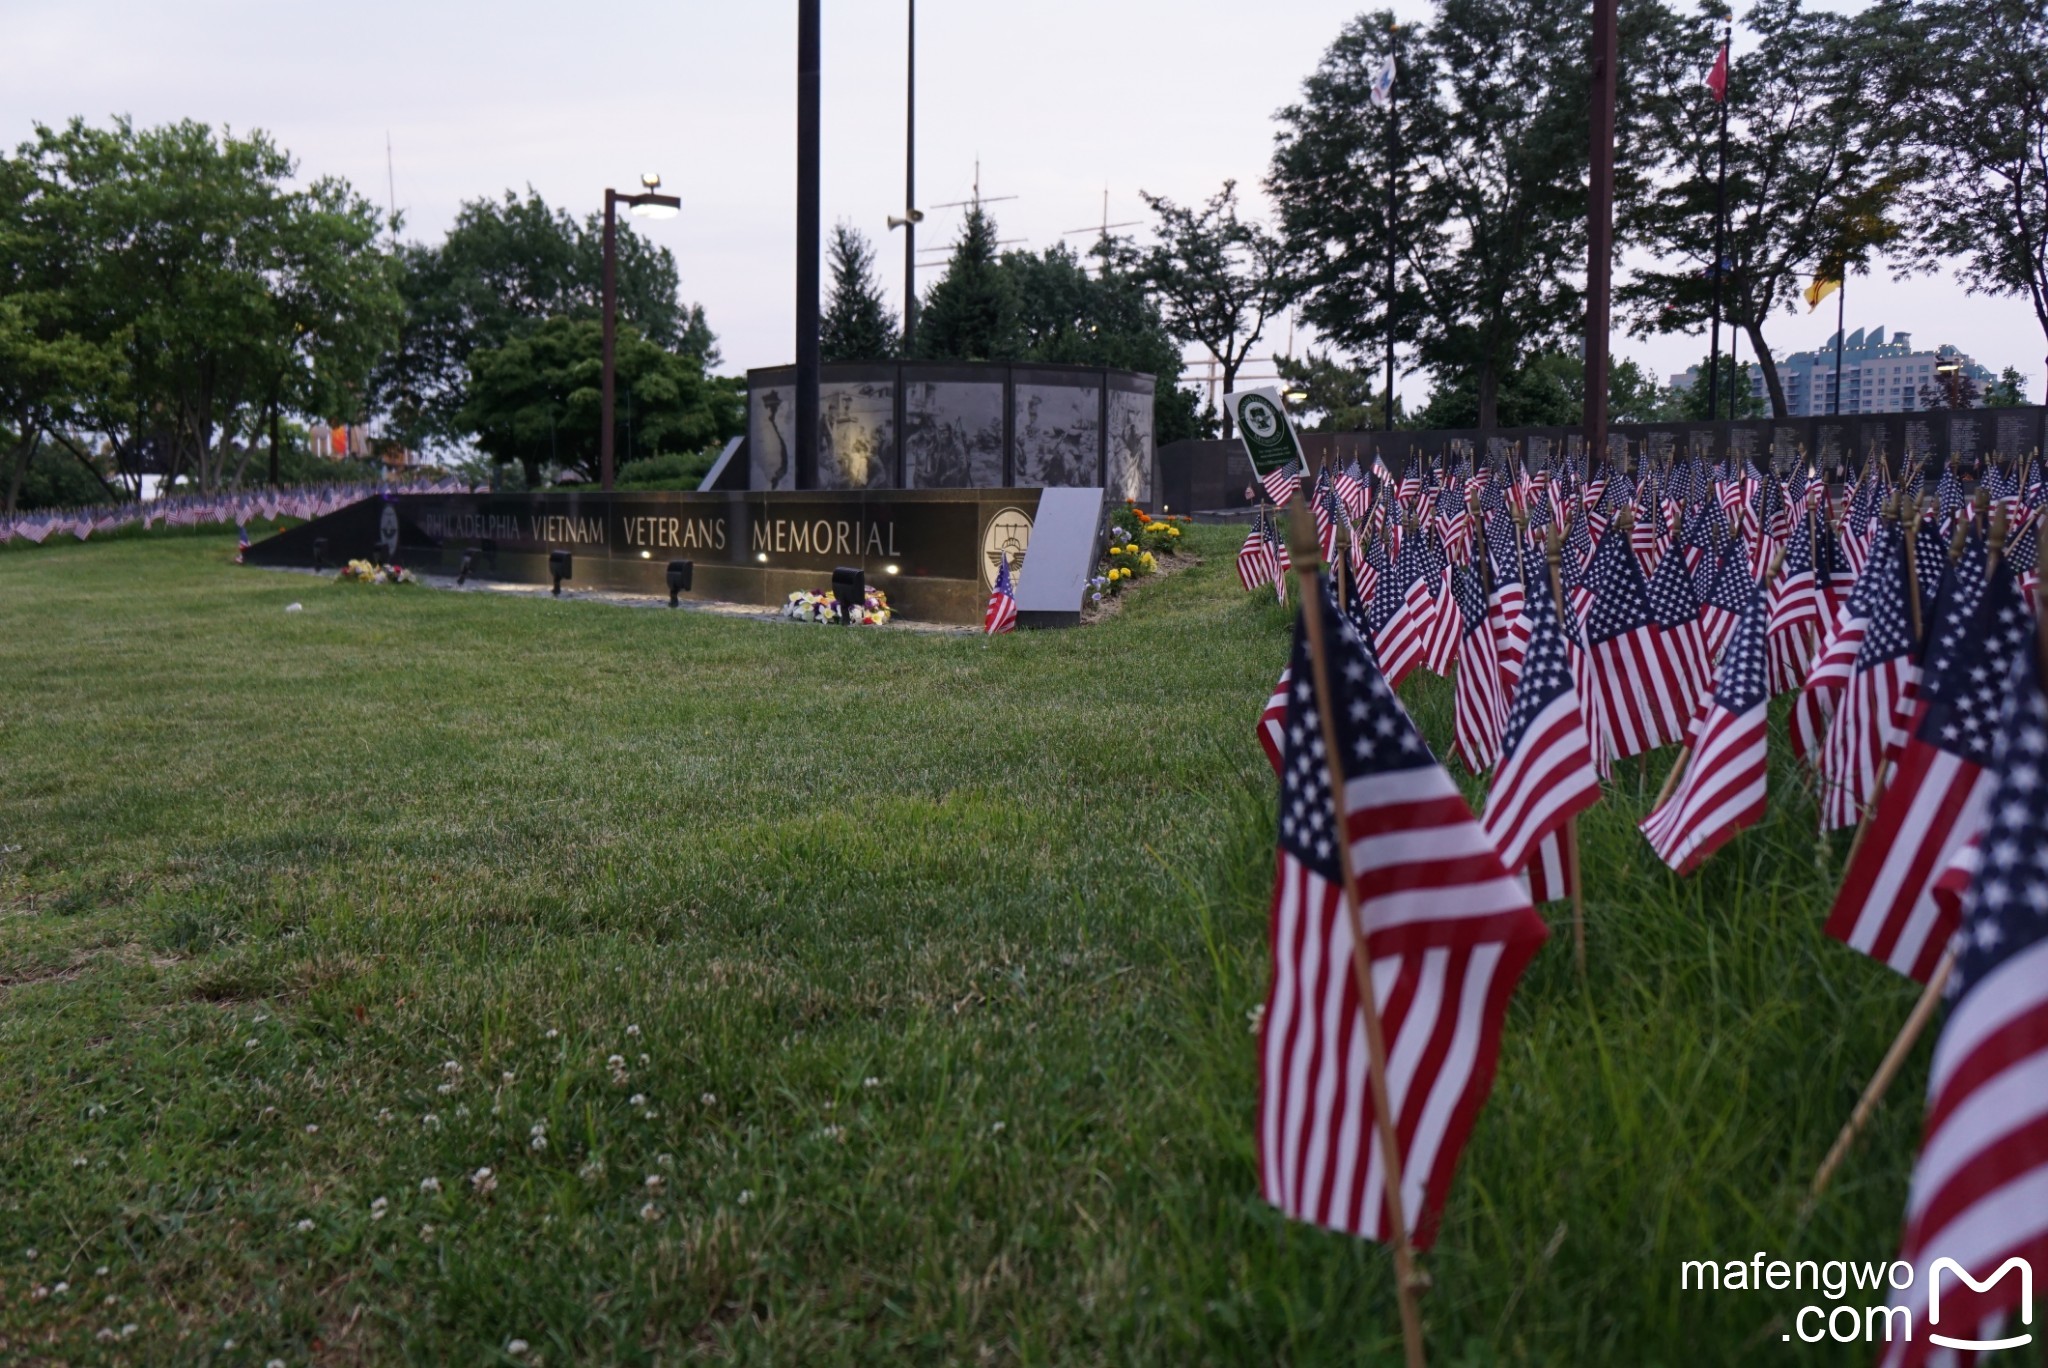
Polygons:
M469 356L469 387L457 422L498 463L518 463L526 487L543 471L598 477L604 330L596 319L551 317L504 346ZM694 453L743 426L731 381L707 379L694 356L621 328L614 346L618 397L614 442L629 463Z

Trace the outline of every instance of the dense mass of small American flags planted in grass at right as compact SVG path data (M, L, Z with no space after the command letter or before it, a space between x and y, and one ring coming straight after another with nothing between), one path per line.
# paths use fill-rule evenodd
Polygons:
M1292 457L1262 461L1247 430L1266 496L1294 508L1300 582L1257 719L1280 776L1264 1196L1391 1239L1407 1327L1409 1247L1434 1237L1491 1089L1507 997L1546 936L1536 903L1575 899L1583 967L1577 817L1616 760L1677 745L1640 829L1692 872L1763 815L1769 700L1796 694L1821 827L1858 827L1827 934L1950 1001L1901 1305L1925 1317L1937 1255L2048 1259L2040 465L1993 465L1974 498L1956 469L1892 477L1878 459L1839 491L1733 459L1530 473L1466 455L1311 477L1290 428L1264 455L1280 438ZM1286 596L1266 506L1237 573ZM1395 694L1415 670L1454 676L1454 756L1491 772L1481 813ZM2011 1280L1944 1300L1972 1327L2015 1309Z

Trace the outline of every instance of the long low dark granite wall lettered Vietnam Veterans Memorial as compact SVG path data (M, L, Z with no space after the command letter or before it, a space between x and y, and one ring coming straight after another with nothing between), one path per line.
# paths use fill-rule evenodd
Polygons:
M688 598L774 606L829 590L858 565L909 618L979 623L985 543L1014 545L1038 489L887 489L788 494L391 494L350 504L248 549L252 565L348 559L549 584L549 553L573 557L569 586L666 594L672 559L692 563ZM997 516L1001 522L997 524ZM1028 532L1026 532L1028 541Z

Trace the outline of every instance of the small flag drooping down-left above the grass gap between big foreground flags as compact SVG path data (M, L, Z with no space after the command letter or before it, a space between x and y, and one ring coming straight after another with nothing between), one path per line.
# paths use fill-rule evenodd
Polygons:
M1686 774L1671 797L1642 819L1651 850L1679 874L1692 872L1763 815L1772 700L1763 686L1767 627L1763 590L1753 588L1720 653L1714 700L1694 735Z

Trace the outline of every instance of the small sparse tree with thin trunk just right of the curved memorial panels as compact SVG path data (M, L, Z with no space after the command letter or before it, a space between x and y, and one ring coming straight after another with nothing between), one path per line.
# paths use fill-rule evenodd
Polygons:
M1239 217L1235 180L1225 180L1200 209L1163 195L1145 195L1145 203L1157 242L1135 256L1135 270L1151 289L1167 334L1214 356L1223 389L1233 391L1266 322L1294 299L1286 252L1264 225ZM1231 436L1229 414L1223 436Z

